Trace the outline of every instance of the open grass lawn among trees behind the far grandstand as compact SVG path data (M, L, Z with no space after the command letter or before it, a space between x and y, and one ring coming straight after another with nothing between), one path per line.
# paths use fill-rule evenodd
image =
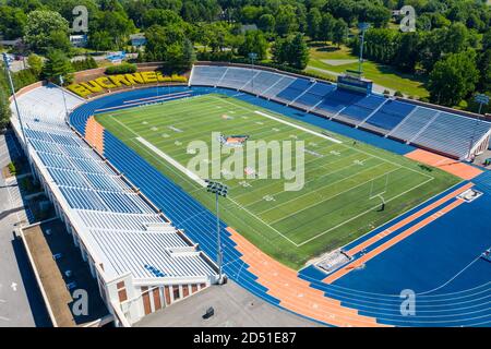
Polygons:
M319 70L312 68L323 69L334 73L343 73L346 70L358 70L358 62L348 64L330 64L325 60L357 60L358 58L351 55L351 49L342 46L340 49L334 46L320 46L311 47L310 49L310 62L307 68L308 72L312 72L320 75L326 75L326 77L333 79L333 74L322 73ZM379 64L366 60L363 63L363 72L367 79L372 80L375 84L384 87L400 91L407 96L414 97L428 97L429 92L424 88L426 81L411 74L404 74L395 70L390 65Z

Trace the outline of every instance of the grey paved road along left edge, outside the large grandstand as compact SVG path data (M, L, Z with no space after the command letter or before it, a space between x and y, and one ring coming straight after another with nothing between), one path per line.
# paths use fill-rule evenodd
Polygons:
M17 155L15 144L0 135L0 169ZM50 326L24 246L13 233L26 217L17 195L16 181L5 182L0 173L0 327Z

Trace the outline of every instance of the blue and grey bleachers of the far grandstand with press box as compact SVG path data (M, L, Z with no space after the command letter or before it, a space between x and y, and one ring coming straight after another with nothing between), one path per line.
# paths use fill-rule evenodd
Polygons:
M243 91L458 159L468 158L491 133L487 121L278 72L194 65L190 85Z

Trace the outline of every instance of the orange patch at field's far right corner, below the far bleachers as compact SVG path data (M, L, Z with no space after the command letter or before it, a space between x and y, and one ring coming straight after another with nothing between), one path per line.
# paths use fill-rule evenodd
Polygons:
M453 160L451 158L434 153L430 153L423 149L416 149L409 154L406 154L406 157L416 160L418 163L436 167L441 170L444 170L448 173L452 173L468 181L482 173L480 169L474 166L466 165L458 160Z

